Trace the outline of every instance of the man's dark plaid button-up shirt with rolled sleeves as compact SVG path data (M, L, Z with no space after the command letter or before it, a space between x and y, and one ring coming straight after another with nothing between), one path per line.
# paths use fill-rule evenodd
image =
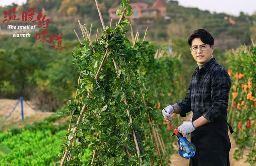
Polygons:
M230 87L230 76L213 57L201 69L195 69L185 99L175 103L181 108L180 116L186 117L192 111L203 114L209 121L227 118Z

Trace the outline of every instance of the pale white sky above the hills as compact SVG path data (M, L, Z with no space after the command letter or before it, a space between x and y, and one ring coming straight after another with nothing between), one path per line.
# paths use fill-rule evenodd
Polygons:
M12 3L22 4L26 0L0 0L0 6ZM256 0L178 0L181 6L196 7L201 10L209 10L216 13L227 13L239 16L240 11L252 15L256 12Z

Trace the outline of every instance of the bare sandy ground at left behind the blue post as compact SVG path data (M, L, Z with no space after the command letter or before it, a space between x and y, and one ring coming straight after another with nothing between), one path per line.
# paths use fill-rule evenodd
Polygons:
M12 111L14 105L18 99L0 99L0 122ZM30 101L26 101L29 105L32 105ZM24 110L24 122L21 119L20 103L12 113L12 115L0 126L0 130L7 130L11 127L24 127L25 124L32 124L34 122L44 120L50 117L54 112L41 112L35 111L30 108L25 102L23 102Z

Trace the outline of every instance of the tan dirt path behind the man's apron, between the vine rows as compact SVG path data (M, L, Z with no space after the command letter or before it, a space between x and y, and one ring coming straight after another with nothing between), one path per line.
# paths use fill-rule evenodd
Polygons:
M191 118L191 115L190 115L190 117L188 116L188 120L190 118ZM186 138L188 140L190 140L190 136L186 136ZM250 166L249 163L244 162L247 158L246 154L249 153L249 150L248 149L245 150L245 152L243 154L243 158L241 158L240 160L235 160L233 158L233 154L234 154L235 150L237 149L237 145L235 143L234 138L231 136L230 133L229 133L229 138L230 138L230 142L231 142L231 149L230 149L230 152L229 152L230 166ZM174 149L178 150L178 142L174 142L173 146L174 146ZM180 155L178 154L178 151L175 152L174 154L172 154L170 156L170 158L171 158L172 163L169 166L189 166L189 160L180 157Z

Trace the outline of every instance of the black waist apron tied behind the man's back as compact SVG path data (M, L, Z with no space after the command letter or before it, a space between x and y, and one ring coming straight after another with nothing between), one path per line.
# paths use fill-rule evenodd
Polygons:
M192 121L201 116L202 114L193 113ZM232 134L232 127L224 117L199 126L191 132L190 141L196 146L196 154L190 158L189 166L230 166L231 142L227 125Z

